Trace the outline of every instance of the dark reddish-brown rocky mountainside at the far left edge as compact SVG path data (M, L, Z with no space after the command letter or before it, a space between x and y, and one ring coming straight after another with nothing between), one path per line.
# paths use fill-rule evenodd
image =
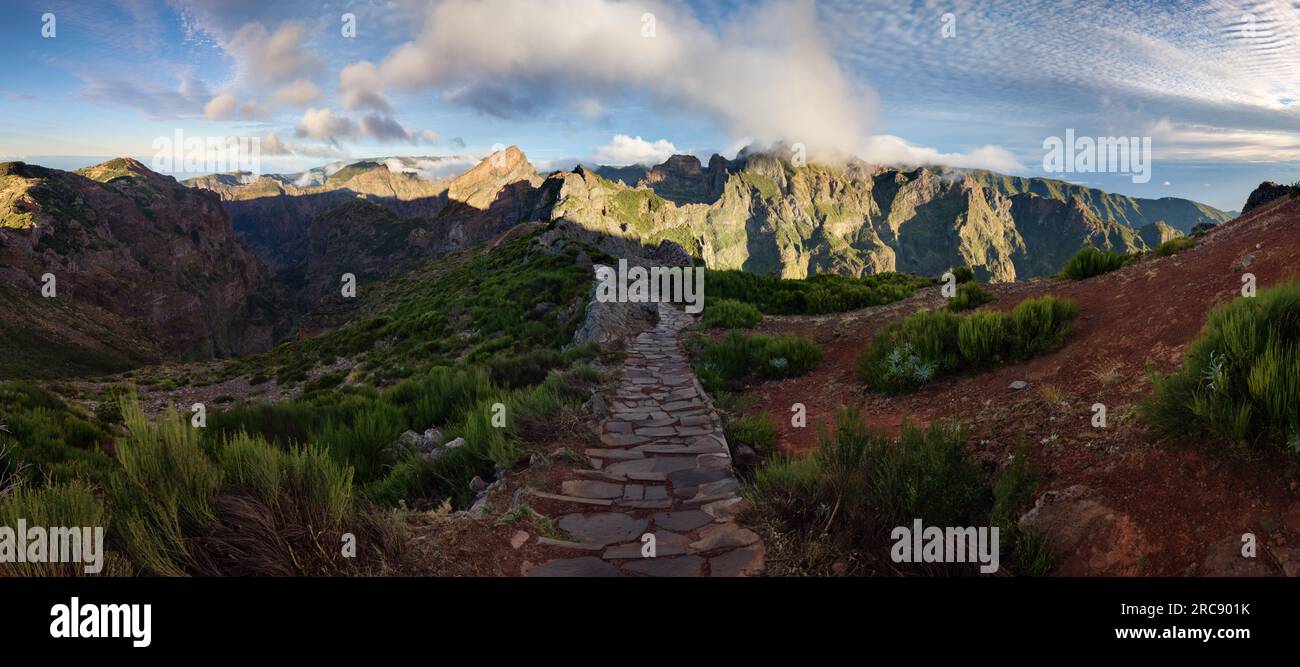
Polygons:
M251 352L285 328L269 273L212 194L130 159L78 173L5 163L0 191L4 317L40 313L56 338L31 345L75 338L84 371Z

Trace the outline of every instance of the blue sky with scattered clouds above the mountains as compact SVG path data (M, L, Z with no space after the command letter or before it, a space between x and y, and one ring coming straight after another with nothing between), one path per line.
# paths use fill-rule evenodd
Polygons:
M9 3L0 156L146 160L259 137L264 172L381 155L541 168L749 142L1054 176L1236 209L1300 179L1287 3L103 0ZM55 17L55 35L43 36ZM356 35L342 34L343 14ZM1149 137L1149 182L1044 172L1044 140Z

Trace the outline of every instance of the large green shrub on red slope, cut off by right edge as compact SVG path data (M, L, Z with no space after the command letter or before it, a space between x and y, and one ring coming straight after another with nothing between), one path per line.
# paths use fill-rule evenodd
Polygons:
M1176 372L1152 374L1139 413L1169 437L1300 454L1300 283L1216 308Z

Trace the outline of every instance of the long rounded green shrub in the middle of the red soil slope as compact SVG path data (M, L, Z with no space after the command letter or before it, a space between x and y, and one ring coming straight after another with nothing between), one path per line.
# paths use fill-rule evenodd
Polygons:
M1027 299L1010 312L920 311L885 325L858 358L858 377L878 391L913 391L936 377L1030 359L1060 347L1078 316L1069 299Z

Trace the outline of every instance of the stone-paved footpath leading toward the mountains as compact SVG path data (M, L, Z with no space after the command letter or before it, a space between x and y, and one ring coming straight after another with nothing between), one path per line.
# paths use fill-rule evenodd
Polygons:
M541 542L575 554L528 576L749 576L764 550L734 515L737 494L722 420L681 348L685 312L659 304L659 324L628 346L590 469L559 494L534 495L569 508L555 516L568 541ZM654 536L654 555L647 556Z

